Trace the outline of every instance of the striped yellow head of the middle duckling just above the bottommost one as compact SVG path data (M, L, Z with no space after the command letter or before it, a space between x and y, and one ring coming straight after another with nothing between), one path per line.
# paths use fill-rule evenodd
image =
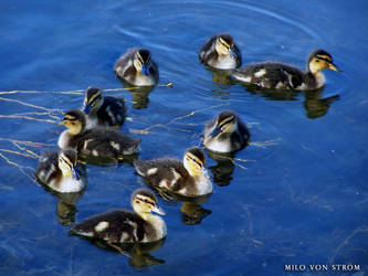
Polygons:
M183 166L190 176L203 174L208 177L206 169L206 157L203 150L199 147L189 148L183 155Z

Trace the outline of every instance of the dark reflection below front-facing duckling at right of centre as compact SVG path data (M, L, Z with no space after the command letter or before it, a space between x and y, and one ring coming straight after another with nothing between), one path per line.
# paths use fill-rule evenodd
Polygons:
M207 155L217 162L214 166L208 167L212 171L213 182L220 187L229 185L235 168L233 153L219 153L207 150Z

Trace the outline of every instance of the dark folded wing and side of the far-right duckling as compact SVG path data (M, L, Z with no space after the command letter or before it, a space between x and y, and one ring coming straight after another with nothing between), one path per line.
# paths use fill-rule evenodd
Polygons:
M302 71L277 62L249 65L242 70L236 70L233 76L240 82L277 89L296 89L304 82L304 73Z

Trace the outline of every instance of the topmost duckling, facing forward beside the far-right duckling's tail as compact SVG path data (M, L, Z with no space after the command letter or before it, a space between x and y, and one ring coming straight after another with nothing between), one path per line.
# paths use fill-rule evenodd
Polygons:
M219 70L233 70L242 65L242 55L228 33L214 34L199 51L199 61Z

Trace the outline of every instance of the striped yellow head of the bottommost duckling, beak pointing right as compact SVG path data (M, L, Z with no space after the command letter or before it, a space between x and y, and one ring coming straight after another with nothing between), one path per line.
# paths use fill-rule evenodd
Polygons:
M166 212L158 206L155 193L148 189L137 189L133 193L132 206L144 219L149 217L151 212L166 215Z

